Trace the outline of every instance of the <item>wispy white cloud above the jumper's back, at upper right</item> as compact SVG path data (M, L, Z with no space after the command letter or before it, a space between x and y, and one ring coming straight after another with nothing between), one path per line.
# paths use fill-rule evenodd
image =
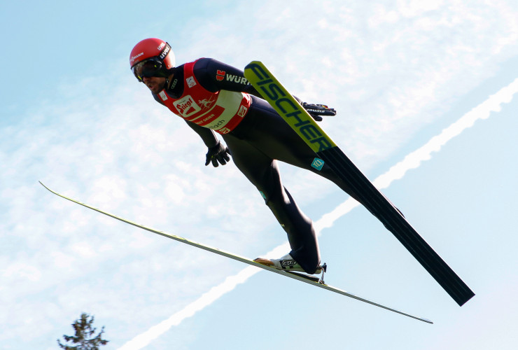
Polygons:
M223 15L227 25L213 26L204 36L209 45L177 50L242 66L250 57L261 59L291 92L339 111L325 126L365 167L402 146L401 133L412 134L442 116L517 52L509 45L518 38L510 15L516 9L505 1L325 4L302 1L279 9L274 1L262 2L254 20L247 18L254 31L249 45L237 45L239 52L217 40L239 31L233 30L243 25L236 13ZM237 12L249 6L243 3ZM501 52L500 41L507 52Z

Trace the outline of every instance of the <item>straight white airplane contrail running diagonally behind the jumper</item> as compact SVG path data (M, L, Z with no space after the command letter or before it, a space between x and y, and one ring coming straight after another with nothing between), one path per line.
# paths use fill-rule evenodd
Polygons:
M409 170L416 169L422 162L430 160L433 152L440 151L442 146L461 134L464 130L472 127L477 120L489 118L491 112L499 112L502 104L511 102L514 94L517 92L518 78L506 87L500 89L496 94L492 94L488 99L486 99L486 101L482 102L482 104L479 104L468 113L465 113L465 115L455 123L449 125L449 127L442 130L440 134L430 139L430 141L428 141L424 146L421 146L421 148L418 148L416 151L409 153L401 162L398 162L396 165L388 169L386 173L378 176L372 183L380 190L388 188L393 181L402 179ZM349 211L358 205L360 204L358 204L356 200L349 198L349 200L339 204L339 206L330 211L330 213L323 215L322 218L314 223L318 235L321 234L321 231L324 228L332 227L333 223L335 223L338 218L349 213ZM289 250L289 245L282 244L281 246L274 248L265 256L270 257L283 255L286 253L286 250ZM201 311L205 307L209 306L218 300L219 297L229 293L237 285L245 283L251 276L259 271L262 270L251 266L242 269L233 276L228 276L221 284L211 288L207 293L204 293L197 300L191 302L165 321L158 323L158 325L154 325L149 328L149 330L146 330L146 332L143 332L126 342L118 350L139 350L144 348L144 346L150 344L154 339L167 332L167 330L172 328L172 326L179 325L184 319L193 316L197 311Z

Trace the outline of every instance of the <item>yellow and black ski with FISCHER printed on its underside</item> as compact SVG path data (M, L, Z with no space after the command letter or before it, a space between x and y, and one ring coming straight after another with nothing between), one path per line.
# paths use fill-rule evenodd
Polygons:
M360 197L367 210L392 232L459 306L475 295L412 228L400 211L372 185L332 139L323 132L316 121L279 83L279 80L276 80L262 62L250 62L245 67L244 76L316 153L318 158L315 158L313 166L318 169L318 166L321 167L324 162L327 163L332 171Z

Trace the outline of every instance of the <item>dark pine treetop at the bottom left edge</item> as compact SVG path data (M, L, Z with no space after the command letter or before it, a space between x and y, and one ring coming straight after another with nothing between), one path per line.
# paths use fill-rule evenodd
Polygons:
M71 344L62 344L59 339L57 344L65 350L99 350L99 346L106 345L109 341L102 339L104 325L101 332L94 336L96 328L93 327L93 323L94 316L83 312L80 318L72 323L75 335L63 335L65 342Z

